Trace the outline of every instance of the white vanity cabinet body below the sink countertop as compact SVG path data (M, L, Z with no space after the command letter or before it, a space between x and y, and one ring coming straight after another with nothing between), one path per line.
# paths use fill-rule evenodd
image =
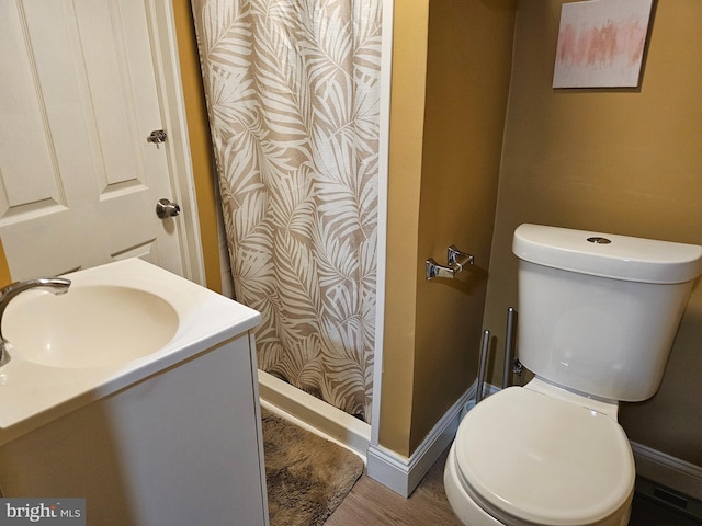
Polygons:
M252 336L0 447L4 496L84 498L94 526L267 525Z

